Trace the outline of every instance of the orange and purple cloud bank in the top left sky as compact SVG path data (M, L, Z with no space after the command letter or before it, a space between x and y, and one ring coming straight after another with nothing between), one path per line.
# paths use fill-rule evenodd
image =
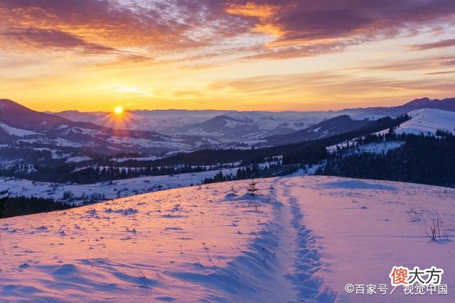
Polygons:
M65 31L90 43L154 50L200 48L247 30L218 1L4 0L2 28ZM243 28L243 30L241 29ZM232 31L231 31L232 30Z

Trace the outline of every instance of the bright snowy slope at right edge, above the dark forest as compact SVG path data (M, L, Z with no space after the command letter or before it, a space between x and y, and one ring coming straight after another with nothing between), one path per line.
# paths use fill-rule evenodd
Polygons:
M455 112L441 109L417 109L410 111L411 120L402 123L395 133L431 133L438 129L455 133Z

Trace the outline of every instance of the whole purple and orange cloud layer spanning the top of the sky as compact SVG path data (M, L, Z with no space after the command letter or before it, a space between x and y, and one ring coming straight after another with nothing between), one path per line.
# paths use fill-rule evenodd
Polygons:
M453 0L2 0L9 39L102 53L155 55L237 46L246 57L281 59L341 52L373 40L453 26ZM36 28L16 33L14 28ZM236 39L247 40L240 45ZM79 45L79 46L75 46ZM414 45L425 50L453 40ZM223 56L223 54L220 54ZM245 54L239 55L245 57Z

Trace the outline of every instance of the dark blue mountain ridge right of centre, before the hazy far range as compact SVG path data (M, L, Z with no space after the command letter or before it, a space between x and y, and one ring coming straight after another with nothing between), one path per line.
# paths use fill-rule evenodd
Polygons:
M290 143L297 143L302 141L311 141L330 136L335 136L340 133L348 133L358 128L368 125L369 120L353 120L348 115L336 116L335 118L328 119L315 124L309 128L287 135L269 136L264 138L265 145L284 145Z

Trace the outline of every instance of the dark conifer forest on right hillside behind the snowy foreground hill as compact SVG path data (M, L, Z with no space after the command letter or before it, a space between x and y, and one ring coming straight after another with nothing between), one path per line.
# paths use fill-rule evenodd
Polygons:
M437 136L370 135L361 144L403 141L387 153L359 153L358 145L331 154L319 175L336 175L455 187L455 136L437 131Z

